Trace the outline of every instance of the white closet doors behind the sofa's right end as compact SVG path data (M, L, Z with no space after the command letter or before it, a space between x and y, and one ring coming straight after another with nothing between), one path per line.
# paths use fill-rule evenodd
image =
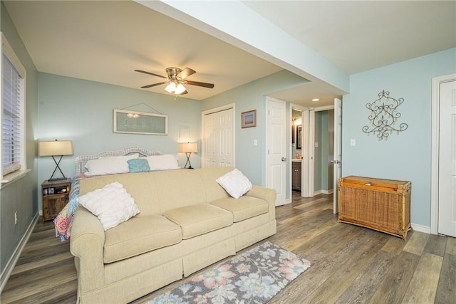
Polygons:
M227 167L233 163L233 109L203 115L202 167Z

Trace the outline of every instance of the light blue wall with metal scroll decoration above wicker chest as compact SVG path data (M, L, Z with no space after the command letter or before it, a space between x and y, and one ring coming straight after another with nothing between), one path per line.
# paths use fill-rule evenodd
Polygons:
M451 73L456 73L456 48L352 75L351 93L343 97L343 176L411 181L411 221L425 227L430 226L432 78ZM362 127L368 125L366 103L382 90L404 99L398 112L408 130L378 141Z

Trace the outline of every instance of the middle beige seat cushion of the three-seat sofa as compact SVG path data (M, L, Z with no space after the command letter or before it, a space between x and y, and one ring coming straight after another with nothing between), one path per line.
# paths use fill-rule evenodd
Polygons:
M190 239L233 224L231 212L211 204L170 209L164 215L180 225L182 239Z

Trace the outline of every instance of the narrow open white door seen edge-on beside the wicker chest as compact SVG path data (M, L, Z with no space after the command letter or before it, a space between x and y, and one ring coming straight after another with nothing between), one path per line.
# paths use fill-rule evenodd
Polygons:
M334 99L333 213L338 213L338 184L342 171L342 101Z

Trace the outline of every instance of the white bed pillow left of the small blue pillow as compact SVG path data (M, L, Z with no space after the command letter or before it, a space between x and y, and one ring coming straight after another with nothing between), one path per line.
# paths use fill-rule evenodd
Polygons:
M131 154L126 156L102 157L99 159L90 159L86 164L88 172L86 175L105 175L116 173L127 173L130 171L128 160L138 158L139 154Z

